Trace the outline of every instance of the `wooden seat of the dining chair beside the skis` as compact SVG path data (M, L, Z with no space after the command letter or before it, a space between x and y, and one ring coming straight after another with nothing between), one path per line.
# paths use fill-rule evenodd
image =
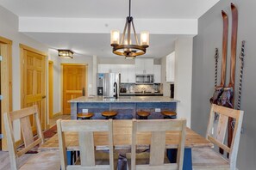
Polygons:
M200 169L200 167L212 167L212 169L215 169L216 167L227 167L230 169L228 161L211 148L193 148L192 162L193 169Z

